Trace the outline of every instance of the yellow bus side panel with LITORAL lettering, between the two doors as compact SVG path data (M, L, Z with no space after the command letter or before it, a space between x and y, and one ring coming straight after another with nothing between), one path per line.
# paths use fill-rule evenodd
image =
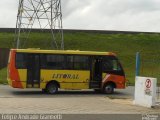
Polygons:
M61 89L88 89L89 79L89 71L41 70L41 88L45 88L49 81L56 80Z

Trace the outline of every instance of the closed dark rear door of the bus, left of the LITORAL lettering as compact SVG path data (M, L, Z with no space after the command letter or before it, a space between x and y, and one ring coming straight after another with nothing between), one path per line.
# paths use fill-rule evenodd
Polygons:
M37 54L28 54L27 88L40 88L40 59Z

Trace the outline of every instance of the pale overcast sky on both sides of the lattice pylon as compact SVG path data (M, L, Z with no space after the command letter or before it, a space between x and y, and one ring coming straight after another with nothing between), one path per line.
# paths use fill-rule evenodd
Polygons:
M0 0L0 28L14 28L19 0ZM160 0L61 0L64 29L160 32Z

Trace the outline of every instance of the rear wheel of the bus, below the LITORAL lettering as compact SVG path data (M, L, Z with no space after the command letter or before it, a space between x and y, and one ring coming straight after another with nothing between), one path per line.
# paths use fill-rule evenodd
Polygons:
M47 85L46 90L47 90L47 93L49 94L56 94L58 92L58 85L54 82L49 83Z

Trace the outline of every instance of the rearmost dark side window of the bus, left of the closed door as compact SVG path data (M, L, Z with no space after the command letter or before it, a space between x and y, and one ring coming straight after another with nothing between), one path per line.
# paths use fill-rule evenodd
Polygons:
M25 69L27 68L26 62L26 54L17 53L16 54L16 68L18 69Z

